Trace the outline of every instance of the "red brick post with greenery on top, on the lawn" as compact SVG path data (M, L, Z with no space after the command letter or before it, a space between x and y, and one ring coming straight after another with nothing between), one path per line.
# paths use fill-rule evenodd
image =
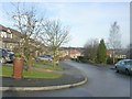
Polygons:
M24 59L21 57L15 57L13 61L13 78L21 79L23 73Z

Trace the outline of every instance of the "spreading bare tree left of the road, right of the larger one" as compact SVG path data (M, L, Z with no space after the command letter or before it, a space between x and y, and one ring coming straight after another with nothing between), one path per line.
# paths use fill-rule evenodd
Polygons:
M40 35L42 42L53 54L53 65L59 59L59 47L69 41L69 30L62 25L61 21L47 20L43 24L44 31Z

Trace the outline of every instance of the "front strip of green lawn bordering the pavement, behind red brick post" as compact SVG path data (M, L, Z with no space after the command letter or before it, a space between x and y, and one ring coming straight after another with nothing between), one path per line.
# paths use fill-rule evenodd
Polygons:
M12 77L13 67L12 66L1 66L0 76L2 77ZM24 78L59 78L61 74L47 73L47 72L37 72L37 70L23 70Z

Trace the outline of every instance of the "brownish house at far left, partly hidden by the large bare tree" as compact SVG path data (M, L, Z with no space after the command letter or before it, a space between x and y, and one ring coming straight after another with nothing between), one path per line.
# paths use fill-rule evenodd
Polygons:
M0 47L15 52L23 42L23 35L19 31L0 24ZM45 53L45 46L41 42L31 38L29 44L31 45L31 52L35 50L35 56ZM40 50L40 47L43 50Z

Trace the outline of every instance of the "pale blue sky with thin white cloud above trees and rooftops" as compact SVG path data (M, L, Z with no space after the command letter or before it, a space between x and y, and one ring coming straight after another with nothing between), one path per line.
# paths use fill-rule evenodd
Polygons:
M13 2L15 3L15 2ZM25 2L26 9L35 6L38 15L59 19L69 26L70 41L65 46L82 47L88 40L103 38L108 42L110 26L114 21L120 25L122 46L130 43L130 3L129 2ZM7 12L14 10L11 2L0 3L0 24L12 26Z

